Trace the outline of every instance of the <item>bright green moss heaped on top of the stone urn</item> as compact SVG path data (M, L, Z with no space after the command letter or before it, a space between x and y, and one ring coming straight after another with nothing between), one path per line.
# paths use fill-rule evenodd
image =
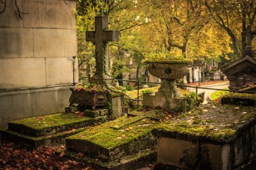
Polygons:
M144 63L192 64L192 60L185 59L183 55L173 55L171 53L154 53L146 55Z

